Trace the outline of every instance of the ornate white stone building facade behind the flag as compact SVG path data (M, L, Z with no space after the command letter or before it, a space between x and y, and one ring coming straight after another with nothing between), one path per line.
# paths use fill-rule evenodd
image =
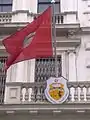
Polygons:
M0 0L0 65L7 59L2 40L33 21L49 0ZM55 27L58 74L68 80L62 104L45 97L46 80L55 76L55 59L20 62L7 73L0 69L0 119L89 120L90 0L56 0Z

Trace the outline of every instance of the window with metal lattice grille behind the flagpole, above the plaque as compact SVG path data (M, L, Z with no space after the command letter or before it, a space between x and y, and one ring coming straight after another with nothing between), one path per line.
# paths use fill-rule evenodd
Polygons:
M58 56L58 75L62 74L61 56ZM49 77L55 77L55 58L36 59L35 81L43 82Z

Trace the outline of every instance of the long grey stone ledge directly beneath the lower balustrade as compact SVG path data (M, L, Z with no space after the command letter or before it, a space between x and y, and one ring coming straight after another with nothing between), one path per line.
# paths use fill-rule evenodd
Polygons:
M68 103L68 104L11 104L0 106L0 112L2 111L67 111L75 112L86 110L90 112L90 103Z

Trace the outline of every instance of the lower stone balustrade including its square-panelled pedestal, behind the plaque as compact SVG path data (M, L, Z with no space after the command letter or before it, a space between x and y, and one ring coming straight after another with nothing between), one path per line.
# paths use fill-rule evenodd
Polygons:
M5 75L0 75L0 104L4 101L5 91ZM20 83L9 82L6 83L9 92L9 104L36 104L49 103L45 97L44 90L46 88L45 82ZM69 96L66 104L69 103L90 103L90 82L68 82ZM18 93L18 94L16 94ZM18 99L18 100L17 100Z

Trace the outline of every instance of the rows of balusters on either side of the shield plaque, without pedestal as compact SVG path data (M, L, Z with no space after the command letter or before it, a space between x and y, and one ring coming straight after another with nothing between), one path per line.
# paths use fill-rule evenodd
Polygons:
M45 82L22 83L20 100L21 103L46 103L44 89ZM69 97L66 103L87 103L90 102L90 82L68 82Z

